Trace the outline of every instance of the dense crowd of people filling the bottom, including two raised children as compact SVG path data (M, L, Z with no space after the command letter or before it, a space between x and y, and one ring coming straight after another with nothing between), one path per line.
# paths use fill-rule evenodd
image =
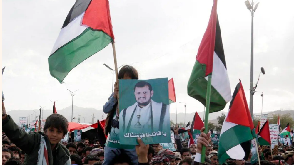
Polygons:
M126 65L119 71L118 78L138 79L138 73ZM219 144L212 142L210 132L204 133L205 128L194 140L196 144L189 144L180 136L176 126L173 129L176 151L163 148L161 144L145 145L140 138L137 146L111 143L109 139L118 138L119 134L118 90L115 84L114 93L103 106L103 111L108 114L105 144L100 144L99 139L90 141L70 136L64 140L68 133L68 120L60 114L47 117L42 131L25 132L6 114L2 99L2 165L191 165L201 164L203 146L206 147L204 164L219 164ZM293 144L280 147L277 154L271 153L269 148L258 147L260 164L293 165ZM250 159L227 159L225 165L251 164Z

